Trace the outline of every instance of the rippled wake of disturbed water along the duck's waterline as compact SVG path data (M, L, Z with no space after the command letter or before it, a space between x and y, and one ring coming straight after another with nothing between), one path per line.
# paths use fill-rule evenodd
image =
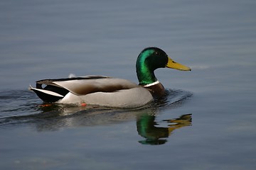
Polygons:
M191 92L179 89L167 89L166 96L143 108L117 109L100 106L73 106L50 104L43 106L42 101L30 91L0 92L0 126L20 123L45 123L55 126L99 125L112 122L127 121L136 118L138 114L154 115L160 109L180 107L192 96Z

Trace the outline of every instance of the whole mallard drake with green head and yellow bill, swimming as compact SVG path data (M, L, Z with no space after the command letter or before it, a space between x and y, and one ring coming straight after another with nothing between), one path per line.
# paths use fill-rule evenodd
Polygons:
M87 76L43 79L36 81L36 88L30 86L29 89L46 102L137 108L164 96L164 86L154 75L155 69L163 67L191 71L189 67L171 60L160 48L147 47L137 57L139 84L126 79Z

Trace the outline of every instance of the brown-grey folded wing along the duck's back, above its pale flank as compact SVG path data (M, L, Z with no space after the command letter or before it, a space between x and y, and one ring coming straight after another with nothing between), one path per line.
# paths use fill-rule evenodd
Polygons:
M45 88L42 88L43 84L46 85ZM63 96L65 96L68 91L78 96L82 96L95 92L113 92L122 89L132 89L137 86L137 84L126 79L103 76L73 77L68 79L43 79L36 81L37 89L45 89L50 91L51 89L58 89L58 91L53 92Z

